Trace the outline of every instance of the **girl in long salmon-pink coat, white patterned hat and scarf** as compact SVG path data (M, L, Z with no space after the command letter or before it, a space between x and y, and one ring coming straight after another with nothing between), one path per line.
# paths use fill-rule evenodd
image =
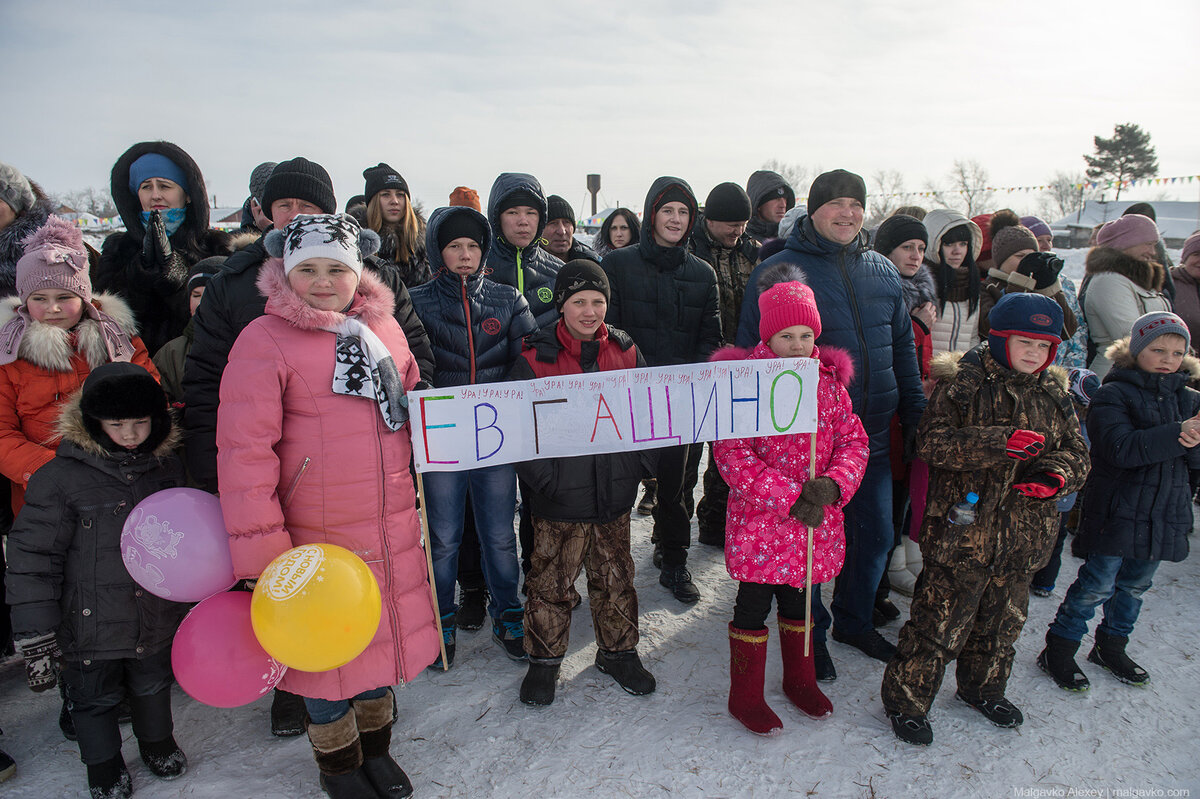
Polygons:
M388 752L389 686L438 655L415 492L408 397L416 362L391 292L362 256L379 246L353 217L301 215L268 234L266 314L238 337L221 379L217 476L238 577L278 554L336 543L383 595L374 639L341 668L289 669L305 697L322 786L334 797L408 795ZM389 793L391 792L391 793Z

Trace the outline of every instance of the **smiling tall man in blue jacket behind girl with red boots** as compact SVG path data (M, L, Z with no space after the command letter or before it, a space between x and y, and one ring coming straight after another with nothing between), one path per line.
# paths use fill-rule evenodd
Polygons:
M892 416L899 410L905 449L914 441L925 409L912 322L900 294L900 276L868 248L863 232L866 185L845 169L827 172L809 190L810 212L792 228L782 252L760 264L746 284L737 344L758 342L758 276L778 263L794 263L808 276L824 319L821 346L839 347L854 359L850 396L870 437L871 457L863 482L846 505L846 563L833 597L833 638L887 662L895 645L871 619L875 590L892 547ZM814 587L814 599L820 593ZM814 601L817 678L836 677L824 645L829 614Z

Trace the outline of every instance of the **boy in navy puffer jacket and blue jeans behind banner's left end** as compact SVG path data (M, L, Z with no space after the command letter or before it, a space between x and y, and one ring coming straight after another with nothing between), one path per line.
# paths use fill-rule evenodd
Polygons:
M433 280L413 289L413 306L433 344L433 385L440 389L506 379L521 356L522 340L538 325L517 289L482 275L492 241L487 220L470 208L439 208L430 216L425 238ZM551 311L558 313L553 306ZM445 666L454 662L454 593L468 495L490 594L492 637L510 659L523 661L524 611L517 595L520 567L512 531L515 468L502 464L431 471L422 480Z

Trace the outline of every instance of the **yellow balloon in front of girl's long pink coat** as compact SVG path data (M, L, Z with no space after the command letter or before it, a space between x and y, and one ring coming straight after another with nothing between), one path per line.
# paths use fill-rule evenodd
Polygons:
M371 569L332 543L306 543L272 560L250 603L258 643L301 672L328 672L361 655L380 613Z

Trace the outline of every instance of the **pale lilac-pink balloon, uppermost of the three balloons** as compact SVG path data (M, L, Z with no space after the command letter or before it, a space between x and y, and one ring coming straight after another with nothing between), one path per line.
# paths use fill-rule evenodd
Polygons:
M174 602L199 602L236 582L221 500L199 488L166 488L138 503L121 530L121 560L138 585Z

